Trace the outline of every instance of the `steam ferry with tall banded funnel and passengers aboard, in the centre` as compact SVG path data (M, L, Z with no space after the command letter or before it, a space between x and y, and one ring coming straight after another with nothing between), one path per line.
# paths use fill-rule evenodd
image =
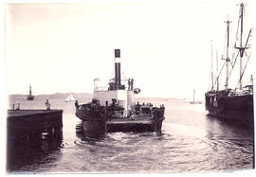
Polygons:
M107 89L100 89L94 80L93 99L86 104L76 102L75 115L82 120L85 133L156 132L161 133L165 119L163 105L135 102L134 80L122 84L120 75L120 50L115 49L115 78L109 80ZM127 83L127 82L126 82Z

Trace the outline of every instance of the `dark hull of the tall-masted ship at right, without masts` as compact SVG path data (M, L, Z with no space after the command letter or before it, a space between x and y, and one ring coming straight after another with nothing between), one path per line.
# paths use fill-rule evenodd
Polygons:
M208 110L209 115L223 119L253 122L253 95L222 97L218 94L207 93L206 110Z

